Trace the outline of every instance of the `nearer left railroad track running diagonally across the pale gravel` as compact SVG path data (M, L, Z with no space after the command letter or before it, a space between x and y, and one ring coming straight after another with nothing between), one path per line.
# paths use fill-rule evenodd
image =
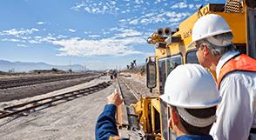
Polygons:
M30 110L36 110L38 107L42 107L44 105L51 105L51 103L55 103L61 100L70 100L71 98L86 96L95 91L103 90L104 88L111 85L111 81L107 83L98 83L97 85L84 88L82 90L74 90L71 92L67 92L64 94L59 94L57 96L45 97L42 99L30 101L27 103L19 103L13 106L8 106L0 110L0 119L4 117L12 117L12 116L26 116L26 112L30 112Z

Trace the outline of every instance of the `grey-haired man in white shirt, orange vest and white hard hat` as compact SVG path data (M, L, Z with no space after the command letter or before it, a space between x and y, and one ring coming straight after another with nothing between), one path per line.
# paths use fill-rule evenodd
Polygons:
M223 17L200 17L192 29L192 43L199 63L216 72L223 101L210 134L214 139L256 138L256 60L232 43L232 30Z

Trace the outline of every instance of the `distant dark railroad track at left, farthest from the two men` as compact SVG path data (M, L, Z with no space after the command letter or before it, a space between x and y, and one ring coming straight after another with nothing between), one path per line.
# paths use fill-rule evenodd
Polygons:
M44 76L44 77L21 77L15 79L2 79L0 80L0 89L13 88L18 86L25 86L37 83L49 83L55 81L62 81L74 79L79 77L90 77L96 74L79 74L79 75L62 75L62 76Z

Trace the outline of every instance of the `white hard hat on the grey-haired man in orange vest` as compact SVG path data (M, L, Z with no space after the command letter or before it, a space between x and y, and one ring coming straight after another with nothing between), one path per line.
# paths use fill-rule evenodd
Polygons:
M192 42L188 44L188 47L194 46L195 42L201 39L231 31L223 17L215 14L205 15L200 17L194 24L192 29Z

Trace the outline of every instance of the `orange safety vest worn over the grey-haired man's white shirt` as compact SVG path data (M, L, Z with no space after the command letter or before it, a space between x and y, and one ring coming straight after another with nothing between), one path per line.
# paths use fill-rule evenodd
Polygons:
M239 55L227 61L219 72L218 87L223 77L234 71L251 71L256 72L256 60L245 54Z

